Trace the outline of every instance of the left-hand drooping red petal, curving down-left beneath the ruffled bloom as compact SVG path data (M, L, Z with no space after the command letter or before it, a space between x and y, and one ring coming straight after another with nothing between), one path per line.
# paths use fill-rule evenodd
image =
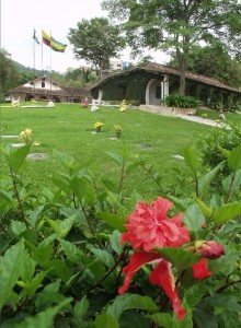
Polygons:
M123 269L123 272L126 274L126 277L123 286L118 289L118 293L124 294L128 290L134 274L139 270L140 267L159 259L161 259L159 254L148 254L146 251L134 253L134 255L130 257L129 265Z

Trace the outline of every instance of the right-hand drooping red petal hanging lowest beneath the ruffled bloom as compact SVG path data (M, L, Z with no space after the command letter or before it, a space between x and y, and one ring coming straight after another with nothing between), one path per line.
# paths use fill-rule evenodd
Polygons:
M169 261L162 259L152 271L150 282L160 285L164 290L165 294L172 301L172 306L177 314L179 320L182 320L186 311L181 306L171 267L172 265Z

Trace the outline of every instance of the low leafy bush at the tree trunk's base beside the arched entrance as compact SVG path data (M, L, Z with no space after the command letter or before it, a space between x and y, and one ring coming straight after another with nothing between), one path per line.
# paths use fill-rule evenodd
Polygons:
M196 108L202 104L200 101L193 96L181 95L179 93L168 95L162 103L169 107L181 108Z

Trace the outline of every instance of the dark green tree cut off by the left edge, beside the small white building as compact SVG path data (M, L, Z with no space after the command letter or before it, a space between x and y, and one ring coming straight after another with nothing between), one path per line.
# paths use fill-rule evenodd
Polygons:
M12 87L19 85L20 75L16 67L5 49L0 50L0 98L9 95Z

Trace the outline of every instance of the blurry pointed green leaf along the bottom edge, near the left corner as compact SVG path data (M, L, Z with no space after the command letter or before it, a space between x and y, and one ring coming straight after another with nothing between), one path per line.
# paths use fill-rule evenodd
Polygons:
M72 298L67 298L60 304L38 313L35 317L26 318L24 321L15 326L15 328L51 328L54 327L55 316L71 301Z

